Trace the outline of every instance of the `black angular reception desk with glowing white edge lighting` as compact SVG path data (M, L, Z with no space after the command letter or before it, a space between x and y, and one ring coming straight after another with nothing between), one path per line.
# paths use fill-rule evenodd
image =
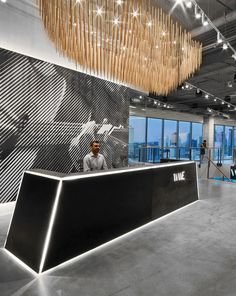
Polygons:
M198 199L196 164L24 172L5 248L37 273Z

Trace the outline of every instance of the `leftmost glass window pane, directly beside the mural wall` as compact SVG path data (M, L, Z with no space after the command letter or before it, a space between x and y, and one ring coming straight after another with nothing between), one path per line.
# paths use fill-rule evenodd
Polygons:
M141 147L146 146L146 118L129 118L129 163L143 161Z

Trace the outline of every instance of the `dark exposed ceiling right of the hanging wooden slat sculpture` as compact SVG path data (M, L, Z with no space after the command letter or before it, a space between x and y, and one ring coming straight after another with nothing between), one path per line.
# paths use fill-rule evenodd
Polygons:
M210 24L204 27L201 19L195 18L194 7L187 8L185 4L175 5L176 0L155 0L155 3L171 13L174 20L203 44L203 63L200 70L188 80L191 84L188 89L182 89L180 86L167 97L155 97L151 94L149 97L170 104L174 111L230 117L235 120L236 108L234 110L233 105L236 107L236 60L232 58L234 52L231 49L223 50L222 44L217 44L216 30ZM236 0L198 0L196 3L225 37L225 41L236 50ZM202 96L201 92L196 96L197 88L202 90ZM208 98L205 98L204 92L209 94ZM216 97L225 103L222 104L219 99L215 101ZM155 107L153 102L154 100L147 98L146 107ZM231 105L230 108L228 104Z

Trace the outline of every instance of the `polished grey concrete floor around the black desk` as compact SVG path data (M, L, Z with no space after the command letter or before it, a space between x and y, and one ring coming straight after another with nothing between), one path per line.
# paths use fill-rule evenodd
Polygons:
M0 295L236 295L236 184L202 180L200 201L40 277L1 248Z

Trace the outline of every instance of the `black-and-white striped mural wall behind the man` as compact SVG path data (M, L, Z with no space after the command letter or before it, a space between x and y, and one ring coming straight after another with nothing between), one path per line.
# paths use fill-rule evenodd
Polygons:
M26 169L80 171L94 139L110 168L127 165L133 90L4 49L0 68L0 202Z

